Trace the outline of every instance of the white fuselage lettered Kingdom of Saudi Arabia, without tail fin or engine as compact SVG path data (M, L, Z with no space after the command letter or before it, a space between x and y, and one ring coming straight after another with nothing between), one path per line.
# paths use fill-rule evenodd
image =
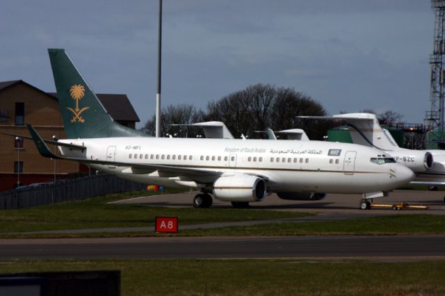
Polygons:
M378 150L347 143L191 138L93 138L61 142L88 147L86 151L60 147L64 156L255 175L265 179L269 192L389 191L408 183L413 176L411 170L397 163L372 162L371 158L378 158ZM157 170L113 165L91 166L133 181L193 187L193 183L187 183L190 178L181 179L177 174L170 176Z

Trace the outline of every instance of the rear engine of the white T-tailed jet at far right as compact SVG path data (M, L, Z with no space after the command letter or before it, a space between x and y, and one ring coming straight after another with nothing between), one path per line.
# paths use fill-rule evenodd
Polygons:
M401 165L409 167L413 172L424 172L430 170L434 161L432 154L422 150L395 150L388 151L389 154Z

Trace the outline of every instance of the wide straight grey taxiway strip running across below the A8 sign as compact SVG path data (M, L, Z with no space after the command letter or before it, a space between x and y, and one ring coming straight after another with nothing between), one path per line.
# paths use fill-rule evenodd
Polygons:
M445 260L445 236L0 240L0 260L385 257Z

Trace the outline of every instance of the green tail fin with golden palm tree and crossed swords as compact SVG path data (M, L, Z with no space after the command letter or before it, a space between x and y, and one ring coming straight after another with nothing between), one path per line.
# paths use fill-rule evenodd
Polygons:
M67 138L147 136L111 118L65 49L48 49L48 53Z

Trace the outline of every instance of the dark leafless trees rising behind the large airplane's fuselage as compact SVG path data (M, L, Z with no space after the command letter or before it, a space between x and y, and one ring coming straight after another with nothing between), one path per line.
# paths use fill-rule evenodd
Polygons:
M233 92L219 101L207 104L207 110L196 110L191 105L168 106L162 110L161 134L180 133L180 136L194 136L199 129L178 127L168 124L191 124L200 121L224 122L238 138L241 134L250 138L257 137L254 131L300 128L305 129L310 138L321 139L330 123L298 120L298 115L326 115L323 106L306 94L292 88L276 88L272 85L250 85L244 90ZM155 117L153 116L143 131L154 134ZM184 130L186 133L184 133Z

